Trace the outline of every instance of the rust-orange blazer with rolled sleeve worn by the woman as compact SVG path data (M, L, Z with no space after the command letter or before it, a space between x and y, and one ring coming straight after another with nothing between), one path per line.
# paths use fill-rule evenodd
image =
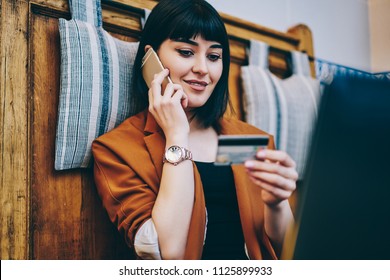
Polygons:
M221 134L265 134L238 120L222 119ZM274 148L270 137L269 148ZM153 116L143 111L92 144L95 183L111 221L133 248L137 230L151 218L165 150L165 137ZM201 259L206 224L202 181L194 166L195 197L185 259ZM260 187L248 178L243 165L233 165L234 182L250 259L276 259L264 230Z

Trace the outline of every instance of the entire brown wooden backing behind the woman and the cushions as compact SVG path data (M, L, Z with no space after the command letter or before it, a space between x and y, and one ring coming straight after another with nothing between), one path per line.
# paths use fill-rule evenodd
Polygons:
M141 13L157 1L103 1L104 28L137 40ZM89 169L54 170L60 49L67 0L0 0L0 258L131 258L101 207ZM231 97L243 118L240 67L251 38L272 46L270 69L289 75L289 50L314 57L310 30L286 33L222 14L231 39ZM312 63L314 75L314 64Z

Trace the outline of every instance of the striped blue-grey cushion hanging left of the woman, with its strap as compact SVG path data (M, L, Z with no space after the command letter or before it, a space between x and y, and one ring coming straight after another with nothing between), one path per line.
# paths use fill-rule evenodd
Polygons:
M61 77L55 169L88 167L92 141L130 112L132 65L138 42L102 28L100 1L73 1L72 19L59 19Z

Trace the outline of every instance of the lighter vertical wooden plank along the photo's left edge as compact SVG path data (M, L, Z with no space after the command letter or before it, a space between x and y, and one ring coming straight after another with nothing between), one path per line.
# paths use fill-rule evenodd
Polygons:
M0 258L29 256L28 3L0 8Z

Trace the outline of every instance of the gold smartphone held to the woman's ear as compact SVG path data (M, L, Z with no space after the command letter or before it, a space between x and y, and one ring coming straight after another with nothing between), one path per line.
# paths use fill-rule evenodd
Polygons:
M147 86L150 88L154 75L164 70L164 66L153 48L150 48L142 58L141 68L142 76L144 77ZM162 82L162 87L165 88L168 83L172 83L172 81L169 77L166 77Z

